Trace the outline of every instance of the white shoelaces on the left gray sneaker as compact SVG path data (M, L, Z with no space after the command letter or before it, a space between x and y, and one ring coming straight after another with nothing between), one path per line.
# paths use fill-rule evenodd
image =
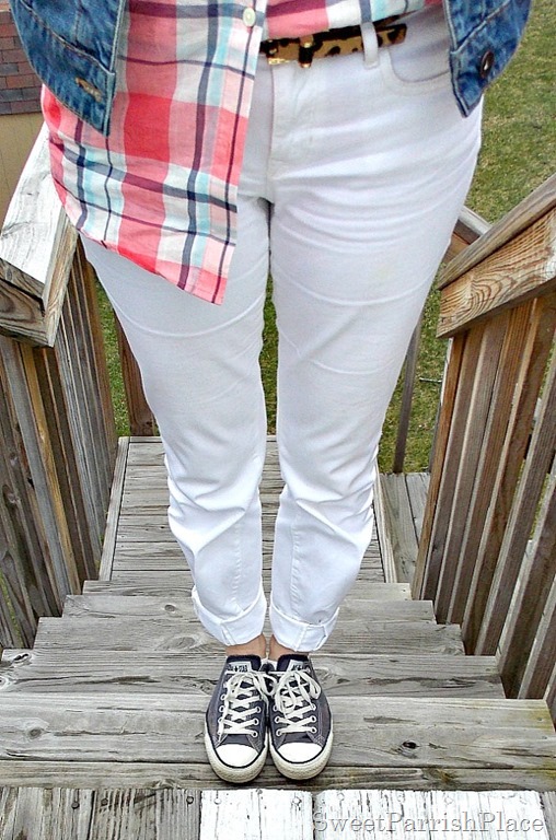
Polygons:
M239 670L225 684L225 692L219 708L219 738L224 735L253 735L258 724L258 712L265 714L265 697L269 697L268 674L259 670ZM263 696L263 697L262 697Z

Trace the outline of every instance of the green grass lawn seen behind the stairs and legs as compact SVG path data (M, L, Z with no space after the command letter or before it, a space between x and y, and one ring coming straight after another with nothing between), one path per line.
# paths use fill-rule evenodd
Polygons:
M467 205L489 222L497 221L554 172L556 161L555 36L556 3L554 0L536 0L518 55L486 96L483 149ZM406 471L426 469L429 460L445 357L445 342L435 337L438 305L438 294L431 292L422 324ZM127 416L116 339L109 307L105 302L103 302L103 319L118 432L127 434ZM260 364L267 398L268 427L273 432L276 422L275 383L278 342L270 295L266 304L264 339ZM380 453L383 470L392 467L399 390L398 386L384 425Z

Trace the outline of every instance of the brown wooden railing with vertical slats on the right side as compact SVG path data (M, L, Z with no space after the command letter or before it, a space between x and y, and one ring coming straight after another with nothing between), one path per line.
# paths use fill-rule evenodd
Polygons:
M556 176L447 268L452 337L414 593L556 716Z

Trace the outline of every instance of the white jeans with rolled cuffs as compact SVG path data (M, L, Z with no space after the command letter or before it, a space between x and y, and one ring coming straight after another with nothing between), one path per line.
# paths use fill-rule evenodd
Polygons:
M406 42L269 68L255 80L224 303L85 243L141 368L164 442L170 524L194 603L224 644L260 633L258 368L270 269L279 330L277 438L286 482L270 621L320 648L372 528L384 413L473 175L479 109L451 91L440 10Z

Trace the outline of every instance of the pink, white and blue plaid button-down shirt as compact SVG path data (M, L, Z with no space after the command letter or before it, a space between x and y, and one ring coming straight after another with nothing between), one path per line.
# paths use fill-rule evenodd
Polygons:
M46 89L51 171L85 236L212 303L223 298L263 37L381 20L442 0L129 0L112 132Z

